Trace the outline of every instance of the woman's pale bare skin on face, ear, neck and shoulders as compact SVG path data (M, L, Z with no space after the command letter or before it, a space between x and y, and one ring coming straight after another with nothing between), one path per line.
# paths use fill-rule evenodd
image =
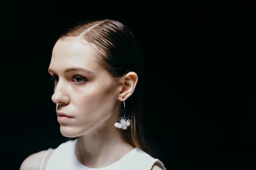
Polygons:
M55 44L49 65L49 73L57 80L52 101L56 103L57 112L74 117L59 123L63 136L79 136L75 146L79 162L91 168L101 168L115 163L134 149L121 140L122 129L116 128L114 123L119 119L119 106L134 92L138 76L129 72L116 83L95 60L95 49L86 41L82 42L79 37L73 37ZM84 68L91 73L64 72L72 67ZM39 170L45 152L27 157L20 170ZM162 168L154 165L152 170Z

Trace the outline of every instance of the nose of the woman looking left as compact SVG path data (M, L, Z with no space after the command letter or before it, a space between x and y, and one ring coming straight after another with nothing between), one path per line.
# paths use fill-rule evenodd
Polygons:
M65 84L64 81L60 81L58 82L58 84L56 85L56 88L54 90L54 94L52 95L52 101L56 104L67 104L69 102L69 98L68 98L68 89L67 89L67 85Z

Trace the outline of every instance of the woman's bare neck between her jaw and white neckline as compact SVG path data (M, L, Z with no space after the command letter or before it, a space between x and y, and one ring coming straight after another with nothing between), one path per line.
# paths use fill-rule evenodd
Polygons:
M109 119L103 126L79 136L75 151L80 163L91 168L109 166L134 149L121 138L122 129L114 127L116 119Z

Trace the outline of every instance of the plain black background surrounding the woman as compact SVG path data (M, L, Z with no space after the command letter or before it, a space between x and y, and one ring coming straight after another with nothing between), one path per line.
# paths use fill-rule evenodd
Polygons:
M241 4L141 4L3 5L1 150L8 169L66 141L47 68L57 35L91 19L120 21L138 36L147 71L147 130L167 170L255 168L252 10Z

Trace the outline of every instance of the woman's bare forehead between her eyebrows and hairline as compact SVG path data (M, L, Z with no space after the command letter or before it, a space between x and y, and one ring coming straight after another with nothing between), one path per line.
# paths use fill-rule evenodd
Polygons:
M80 38L58 40L52 51L50 68L65 69L67 67L82 67L91 71L101 69L96 62L96 51Z

